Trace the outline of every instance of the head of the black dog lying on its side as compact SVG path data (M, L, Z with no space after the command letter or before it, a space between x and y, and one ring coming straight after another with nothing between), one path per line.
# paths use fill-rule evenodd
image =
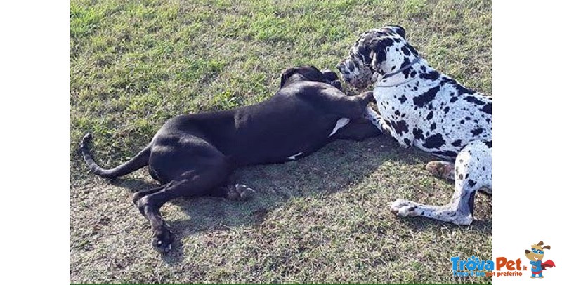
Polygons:
M286 69L285 72L281 74L280 88L298 81L323 82L341 89L341 83L339 82L336 72L329 69L320 71L313 65L303 65Z

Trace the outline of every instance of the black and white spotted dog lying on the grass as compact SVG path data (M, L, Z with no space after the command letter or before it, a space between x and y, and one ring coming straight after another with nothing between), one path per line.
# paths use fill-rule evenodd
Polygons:
M399 26L362 33L338 69L357 88L374 83L378 113L367 106L367 119L400 146L419 147L445 159L431 161L426 168L455 180L455 193L446 206L398 199L391 211L400 217L469 225L476 190L492 189L491 98L433 69Z

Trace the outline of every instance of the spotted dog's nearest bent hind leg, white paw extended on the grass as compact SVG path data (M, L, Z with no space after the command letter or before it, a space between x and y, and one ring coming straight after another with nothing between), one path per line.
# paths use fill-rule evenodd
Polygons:
M469 225L473 220L474 194L481 187L492 189L492 149L484 142L466 145L455 160L455 193L446 206L428 206L398 199L391 211L400 217L423 216Z

